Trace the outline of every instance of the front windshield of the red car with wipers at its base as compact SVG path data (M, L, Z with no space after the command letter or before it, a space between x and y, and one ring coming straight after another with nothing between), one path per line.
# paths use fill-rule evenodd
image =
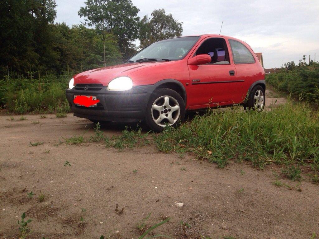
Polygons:
M162 41L157 41L145 47L127 61L137 61L140 59L182 59L197 42L199 37L178 37Z

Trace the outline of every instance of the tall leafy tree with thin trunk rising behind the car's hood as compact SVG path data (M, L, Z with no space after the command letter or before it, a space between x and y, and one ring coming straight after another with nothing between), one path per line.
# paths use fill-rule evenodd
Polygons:
M100 34L104 47L104 65L106 65L105 41L108 33L117 36L120 50L125 54L133 40L138 37L140 18L139 9L131 0L87 0L85 7L78 11L87 25L94 26ZM112 36L113 37L113 36Z

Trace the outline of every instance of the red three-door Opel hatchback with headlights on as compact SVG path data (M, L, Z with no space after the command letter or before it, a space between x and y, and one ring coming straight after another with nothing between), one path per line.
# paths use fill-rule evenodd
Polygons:
M66 97L75 116L100 123L144 121L161 131L191 110L241 104L262 111L264 76L256 54L241 40L176 37L154 42L120 65L75 75Z

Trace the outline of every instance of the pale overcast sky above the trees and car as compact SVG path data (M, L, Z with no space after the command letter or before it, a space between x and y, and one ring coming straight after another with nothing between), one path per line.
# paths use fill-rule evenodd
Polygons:
M78 10L85 0L56 0L56 22L79 24ZM319 1L132 0L139 16L164 8L183 22L183 35L219 33L247 42L263 53L265 68L280 67L302 55L319 60Z

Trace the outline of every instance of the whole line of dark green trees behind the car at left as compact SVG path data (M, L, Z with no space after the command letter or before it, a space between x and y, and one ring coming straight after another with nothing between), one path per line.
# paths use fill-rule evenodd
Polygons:
M54 23L55 0L0 2L0 71L18 75L78 72L126 60L139 48L182 35L182 22L164 9L138 16L131 0L87 0L83 23ZM133 44L140 40L140 46Z

